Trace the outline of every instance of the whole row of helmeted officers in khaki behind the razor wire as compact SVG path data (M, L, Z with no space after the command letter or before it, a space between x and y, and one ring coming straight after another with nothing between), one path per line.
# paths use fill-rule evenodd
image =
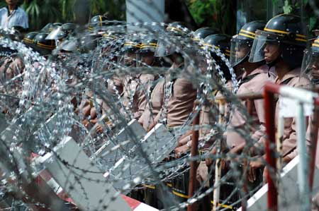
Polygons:
M49 55L71 54L79 51L81 53L90 52L99 45L99 37L106 38L109 43L116 43L118 37L116 33L110 32L105 25L103 16L92 18L88 31L89 35L77 37L69 42L69 38L79 29L77 25L49 24L40 32L30 32L23 38L23 42L32 47L35 51L49 58ZM189 39L198 49L208 49L213 59L220 66L225 88L232 91L237 86L233 74L229 70L227 61L220 59L216 55L219 49L227 59L230 66L235 71L235 78L239 81L237 94L260 92L267 83L278 85L289 85L297 88L308 88L316 83L319 76L319 39L310 40L310 48L306 49L306 33L301 18L293 15L275 16L267 23L262 21L252 21L245 24L237 35L223 35L213 28L200 28L195 32L188 30L183 23L171 23L166 28L167 34L178 39ZM16 39L16 37L11 37ZM108 46L111 46L109 44ZM116 48L111 47L114 51ZM8 49L6 49L8 50ZM103 49L104 54L111 54L109 49ZM127 68L133 67L167 67L167 73L131 73L128 76L113 76L108 80L106 89L112 95L120 95L123 104L123 114L128 119L136 119L145 131L150 131L157 123L164 123L169 131L177 138L177 147L172 152L173 157L179 158L187 155L191 149L191 131L183 131L181 128L189 120L189 115L194 109L194 102L200 95L200 88L194 86L191 78L187 77L189 64L183 52L187 51L187 46L183 44L165 43L160 37L138 37L131 36L126 39L123 46L118 49L110 60ZM304 55L303 55L304 54ZM202 74L211 74L218 77L218 73L207 73L208 66L203 54L199 50L194 55L203 61ZM221 56L223 57L223 56ZM62 57L61 57L62 58ZM0 81L4 83L23 70L23 60L15 57L13 61L5 61L0 69ZM10 67L8 67L8 64ZM86 66L89 66L86 64ZM110 65L109 65L110 66ZM109 68L108 66L108 68ZM302 66L302 68L301 68ZM181 74L174 74L176 70L183 70ZM199 93L199 94L198 94ZM103 133L105 127L98 122L99 109L101 112L108 110L108 106L100 101L100 108L97 108L91 100L91 93L85 93L77 106L77 112L83 116L82 123L87 128L96 125L96 133ZM213 92L214 97L223 95L223 92ZM209 100L208 100L209 101ZM216 155L218 147L216 140L222 137L222 153L225 157L230 155L241 155L250 143L250 155L255 159L250 161L249 166L249 187L256 188L262 181L262 171L264 169L264 143L265 138L265 115L263 100L254 100L252 111L253 124L247 134L248 119L240 108L235 107L228 116L230 123L224 133L211 135L211 128L218 122L216 114L212 112L212 107L216 105L206 102L199 112L199 150L204 155ZM227 101L227 100L226 100ZM245 102L242 102L245 104ZM279 104L276 104L276 113L279 111ZM309 120L311 121L311 120ZM307 121L308 122L308 121ZM306 126L308 127L308 125ZM310 133L310 129L308 130ZM307 140L310 146L310 134ZM244 135L243 135L244 134ZM247 137L245 136L247 135ZM293 118L284 119L284 137L282 159L286 164L296 157L296 121ZM253 144L251 144L253 143ZM317 157L318 159L318 157ZM230 169L230 159L223 159L223 174ZM237 162L242 162L239 160ZM317 164L319 164L317 160ZM210 169L213 168L213 160L206 159L199 163L196 179L206 188L213 186ZM188 196L188 171L179 174L172 181L167 181L172 193L177 200L185 201ZM238 178L231 179L233 182ZM143 191L143 199L146 203L154 207L162 208L157 195L157 186L147 186ZM222 198L227 198L233 186L224 185L222 188ZM233 203L237 198L229 200ZM203 205L208 208L211 205ZM231 208L231 207L228 207ZM235 207L233 207L235 208ZM208 208L209 209L209 208Z

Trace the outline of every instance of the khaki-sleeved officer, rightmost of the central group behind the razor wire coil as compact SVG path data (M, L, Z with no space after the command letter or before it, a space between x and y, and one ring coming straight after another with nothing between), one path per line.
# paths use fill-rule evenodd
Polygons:
M169 27L172 27L172 25ZM162 57L165 61L172 62L172 66L164 76L164 82L157 83L158 88L162 87L159 88L159 90L163 90L163 94L160 92L157 93L162 95L162 99L158 100L159 104L162 104L162 107L149 128L152 128L159 122L166 123L169 131L171 131L178 140L181 135L184 135L179 134L179 129L186 123L189 114L193 111L197 89L194 88L193 83L184 76L184 74L186 74L184 58L180 52L177 52L176 46L179 45L177 41L179 40L178 37L172 36L172 40L174 40L174 44L159 40L157 46L156 55ZM179 48L182 47L179 46ZM155 87L155 89L157 87ZM172 180L172 193L177 200L185 201L188 198L188 183L188 172L180 174Z

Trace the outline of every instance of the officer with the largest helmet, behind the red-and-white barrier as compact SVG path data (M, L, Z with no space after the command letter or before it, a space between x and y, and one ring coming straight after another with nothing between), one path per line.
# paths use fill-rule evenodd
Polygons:
M306 88L310 85L308 78L301 76L301 62L303 49L306 47L301 18L298 16L282 14L275 16L267 23L264 30L257 30L254 40L251 61L265 59L269 67L274 67L277 73L275 84ZM279 103L276 104L276 119L279 114ZM277 121L275 121L276 123ZM265 138L259 139L254 152L263 155ZM284 119L284 137L282 156L284 162L289 162L291 152L296 147L296 123L294 118ZM264 166L262 159L250 162L250 181L256 179L255 170Z

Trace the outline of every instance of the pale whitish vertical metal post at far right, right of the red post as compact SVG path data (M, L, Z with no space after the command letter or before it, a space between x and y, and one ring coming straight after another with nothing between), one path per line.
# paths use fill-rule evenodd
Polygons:
M303 104L298 102L296 112L297 148L299 155L298 187L301 194L301 210L310 210L310 193L308 183L308 155L306 147L306 122Z

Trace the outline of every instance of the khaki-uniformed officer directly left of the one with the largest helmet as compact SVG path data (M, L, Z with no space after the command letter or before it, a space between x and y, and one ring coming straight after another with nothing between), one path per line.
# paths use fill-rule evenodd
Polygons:
M254 41L255 31L264 28L262 21L252 21L245 24L240 30L238 35L233 36L231 40L230 51L230 64L235 69L236 73L244 72L240 79L240 87L237 91L238 94L247 94L250 92L261 92L264 85L268 82L274 81L276 73L274 68L269 69L266 65L263 65L263 61L256 63L250 63L248 61L250 52L252 49L252 42ZM260 133L264 132L264 103L263 100L254 100L253 112L256 123L260 124L258 131L254 131L254 135L259 137ZM238 109L233 111L232 118L230 119L230 125L225 133L226 145L228 150L232 152L242 143L245 143L245 139L236 133L233 128L237 130L243 128L246 124L246 119ZM215 150L213 150L214 152ZM207 164L211 164L208 160ZM203 165L203 164L201 164ZM201 171L200 169L198 170ZM206 172L207 173L207 172ZM201 175L198 175L200 180ZM206 177L206 176L205 176Z

